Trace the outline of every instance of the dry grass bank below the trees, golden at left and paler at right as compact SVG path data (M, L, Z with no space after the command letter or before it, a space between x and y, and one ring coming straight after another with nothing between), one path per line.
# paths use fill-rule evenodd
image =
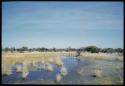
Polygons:
M11 66L21 63L23 65L40 63L54 63L62 65L62 56L74 57L77 52L26 52L26 53L5 53L2 52L2 74L11 74ZM118 60L123 61L123 56L117 53L88 53L82 52L81 59L91 60Z

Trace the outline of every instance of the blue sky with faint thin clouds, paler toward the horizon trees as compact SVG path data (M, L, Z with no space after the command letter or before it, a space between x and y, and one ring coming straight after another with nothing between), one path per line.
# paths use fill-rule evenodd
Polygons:
M2 2L2 47L123 48L123 2Z

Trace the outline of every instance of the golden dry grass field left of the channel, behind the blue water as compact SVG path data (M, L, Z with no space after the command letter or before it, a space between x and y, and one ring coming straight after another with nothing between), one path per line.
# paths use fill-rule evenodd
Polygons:
M11 74L10 68L5 65L13 65L21 63L28 66L30 63L36 66L37 62L40 63L54 63L57 66L62 66L61 56L74 56L75 52L35 52L35 53L5 53L2 52L2 74ZM52 70L51 67L49 69Z

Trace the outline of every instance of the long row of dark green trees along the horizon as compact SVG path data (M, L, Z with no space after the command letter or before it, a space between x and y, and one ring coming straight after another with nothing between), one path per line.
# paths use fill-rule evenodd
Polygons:
M41 48L28 48L26 46L23 46L21 48L15 48L15 47L6 47L4 49L2 49L2 51L4 52L14 52L14 51L17 51L17 52L20 52L20 53L23 53L25 51L28 51L28 52L34 52L34 51L38 51L38 52L59 52L59 51L77 51L78 53L80 52L91 52L91 53L99 53L99 52L103 52L103 53L123 53L123 50L124 49L121 49L121 48L117 48L117 49L113 49L113 48L98 48L97 46L87 46L87 47L81 47L81 48L71 48L71 47L68 47L68 48L60 48L60 49L57 49L57 48L45 48L45 47L41 47Z

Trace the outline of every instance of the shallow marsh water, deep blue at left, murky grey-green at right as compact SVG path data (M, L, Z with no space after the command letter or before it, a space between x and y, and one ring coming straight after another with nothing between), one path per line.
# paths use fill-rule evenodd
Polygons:
M29 74L22 80L22 73L17 73L16 65L23 67L23 64L12 65L12 74L2 76L2 83L48 83L50 81L70 84L95 84L103 82L105 78L112 78L112 82L123 81L122 62L109 62L105 60L87 60L73 57L62 57L62 66L51 63L52 72L46 70L46 64L39 62L27 65ZM116 65L119 69L116 70ZM26 66L25 66L26 67ZM63 68L64 67L64 68ZM64 72L64 74L61 74ZM25 74L24 74L25 75ZM120 78L121 77L121 78ZM100 80L100 81L99 81ZM34 82L35 81L35 82ZM39 82L40 81L40 82ZM49 82L48 82L49 81ZM55 82L54 82L55 83Z

